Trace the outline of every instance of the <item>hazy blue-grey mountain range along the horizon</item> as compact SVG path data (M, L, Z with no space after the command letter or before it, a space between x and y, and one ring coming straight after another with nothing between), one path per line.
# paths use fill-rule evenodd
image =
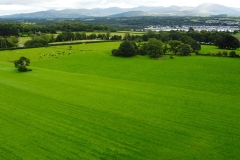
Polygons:
M240 8L226 7L219 4L204 3L196 7L169 6L135 8L94 8L94 9L64 9L47 10L33 13L21 13L0 16L0 18L86 18L86 17L136 17L136 16L240 16Z

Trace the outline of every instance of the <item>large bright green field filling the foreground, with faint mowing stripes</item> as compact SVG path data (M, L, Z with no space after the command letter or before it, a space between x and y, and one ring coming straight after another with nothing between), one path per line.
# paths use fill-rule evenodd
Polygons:
M0 51L0 159L239 159L239 59L118 46ZM14 69L22 55L32 72Z

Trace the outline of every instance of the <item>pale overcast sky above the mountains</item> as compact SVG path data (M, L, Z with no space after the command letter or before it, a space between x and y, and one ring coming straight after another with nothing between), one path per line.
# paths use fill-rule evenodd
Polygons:
M138 6L197 6L217 3L240 8L239 0L0 0L0 15L66 8L130 8Z

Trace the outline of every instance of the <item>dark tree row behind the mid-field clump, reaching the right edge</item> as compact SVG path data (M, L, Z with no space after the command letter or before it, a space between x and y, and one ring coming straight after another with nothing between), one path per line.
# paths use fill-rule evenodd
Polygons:
M220 49L237 49L240 47L240 43L236 37L227 32L209 32L209 31L194 31L189 29L188 32L174 31L169 32L164 31L151 31L142 36L130 35L126 33L124 36L125 40L132 41L148 41L150 38L155 38L161 40L162 42L168 41L181 41L183 43L191 45L192 49L197 51L201 49L201 44L211 44L218 46Z

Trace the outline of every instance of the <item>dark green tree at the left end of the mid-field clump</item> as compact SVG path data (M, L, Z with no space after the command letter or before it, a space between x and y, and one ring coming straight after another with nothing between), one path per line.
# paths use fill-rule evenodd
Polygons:
M114 56L131 57L137 52L135 42L124 41L120 44L118 50L112 51Z

